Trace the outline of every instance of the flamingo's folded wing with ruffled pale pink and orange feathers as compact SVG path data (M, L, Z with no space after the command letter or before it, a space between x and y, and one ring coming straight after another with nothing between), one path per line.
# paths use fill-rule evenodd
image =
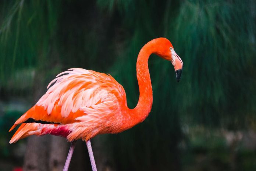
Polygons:
M73 124L73 130L82 123L90 129L95 127L96 133L102 130L100 127L110 129L113 120L115 124L121 123L120 104L126 102L125 91L112 76L72 68L56 77L49 83L45 95L15 122L10 131L21 123L46 122Z

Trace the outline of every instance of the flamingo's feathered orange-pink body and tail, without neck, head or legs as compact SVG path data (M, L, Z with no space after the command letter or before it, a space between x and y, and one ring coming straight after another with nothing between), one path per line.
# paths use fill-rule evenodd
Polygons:
M29 118L49 124L23 123L10 143L32 134L59 135L68 141L88 140L100 133L122 132L134 124L129 119L131 110L125 90L110 75L72 68L57 75L47 88L46 94L10 131Z

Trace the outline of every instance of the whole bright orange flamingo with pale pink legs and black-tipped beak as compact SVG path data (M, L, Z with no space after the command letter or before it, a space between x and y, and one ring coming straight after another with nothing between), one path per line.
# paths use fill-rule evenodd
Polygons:
M151 54L171 61L179 82L183 62L166 38L151 40L139 52L136 64L139 101L134 109L127 107L125 90L111 75L71 68L58 74L47 86L45 95L14 123L10 131L21 125L10 143L30 135L63 136L71 142L63 169L67 171L75 142L82 139L88 148L92 170L97 171L90 139L130 129L150 113L153 92L148 59Z

